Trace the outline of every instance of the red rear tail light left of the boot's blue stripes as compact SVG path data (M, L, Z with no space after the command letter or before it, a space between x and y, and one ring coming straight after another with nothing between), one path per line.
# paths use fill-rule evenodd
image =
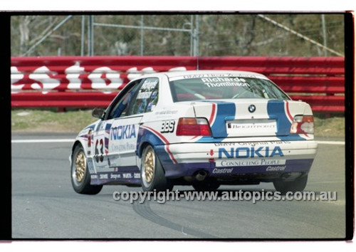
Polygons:
M205 118L182 117L178 120L177 136L210 136L209 123Z

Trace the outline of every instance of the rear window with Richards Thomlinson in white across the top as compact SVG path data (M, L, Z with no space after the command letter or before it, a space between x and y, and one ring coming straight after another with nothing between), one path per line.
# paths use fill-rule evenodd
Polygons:
M169 85L174 102L244 98L290 100L271 80L260 78L183 78L171 80Z

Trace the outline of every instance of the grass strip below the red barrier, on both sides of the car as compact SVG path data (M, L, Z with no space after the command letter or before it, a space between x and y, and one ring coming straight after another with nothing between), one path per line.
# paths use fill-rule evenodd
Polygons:
M91 110L11 110L11 130L17 132L79 132L95 120ZM345 137L345 118L315 117L315 136Z

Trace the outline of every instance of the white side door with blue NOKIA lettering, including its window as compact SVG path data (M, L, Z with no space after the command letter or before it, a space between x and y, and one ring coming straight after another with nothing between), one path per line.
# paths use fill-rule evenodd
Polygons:
M115 113L108 136L110 167L117 171L137 167L137 136L145 112L151 111L157 95L158 78L145 78L122 100L127 107ZM118 106L120 107L120 105ZM123 107L123 105L121 106Z

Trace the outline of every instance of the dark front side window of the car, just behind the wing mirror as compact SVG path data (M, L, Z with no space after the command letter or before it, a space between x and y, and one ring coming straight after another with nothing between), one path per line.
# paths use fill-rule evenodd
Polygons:
M127 115L130 108L130 103L132 103L133 97L138 88L140 88L140 82L142 80L137 80L132 84L132 87L127 90L127 92L118 100L118 102L113 105L112 110L110 110L110 115L108 119L123 117Z

